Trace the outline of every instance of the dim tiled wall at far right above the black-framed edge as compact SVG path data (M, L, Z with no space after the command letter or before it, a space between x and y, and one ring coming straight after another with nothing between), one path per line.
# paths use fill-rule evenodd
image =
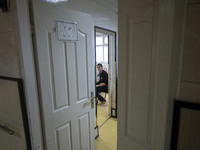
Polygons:
M200 103L200 0L188 0L180 99Z

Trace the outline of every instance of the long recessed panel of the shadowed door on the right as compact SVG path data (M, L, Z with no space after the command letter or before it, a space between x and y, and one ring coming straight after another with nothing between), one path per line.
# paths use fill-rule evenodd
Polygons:
M152 135L153 99L153 14L154 5L149 5L140 14L127 15L126 91L124 104L124 138L126 143L138 150L150 149ZM120 59L120 56L119 56ZM119 70L120 72L120 70ZM120 87L120 85L119 85ZM120 93L120 92L119 92ZM119 96L120 97L120 96ZM120 119L120 118L119 118ZM121 120L119 120L121 121ZM120 127L120 125L119 125ZM119 138L121 135L119 135ZM131 142L132 141L132 142ZM128 146L127 149L130 147Z

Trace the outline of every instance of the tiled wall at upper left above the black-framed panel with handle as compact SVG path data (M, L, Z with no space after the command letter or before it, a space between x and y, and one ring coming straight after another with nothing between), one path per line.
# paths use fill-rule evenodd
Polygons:
M19 50L15 38L15 4L9 12L0 9L0 76L20 77Z

